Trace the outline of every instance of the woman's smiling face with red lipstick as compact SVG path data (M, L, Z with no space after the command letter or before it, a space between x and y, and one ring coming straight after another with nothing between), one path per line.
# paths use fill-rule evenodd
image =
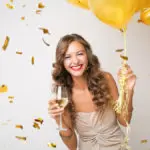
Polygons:
M88 65L87 54L82 44L72 42L66 51L64 67L72 77L81 77Z

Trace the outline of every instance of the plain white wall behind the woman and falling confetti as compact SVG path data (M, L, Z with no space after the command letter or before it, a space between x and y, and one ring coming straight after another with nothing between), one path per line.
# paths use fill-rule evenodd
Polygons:
M47 111L59 38L68 33L81 34L91 43L102 68L116 79L121 59L115 50L123 48L123 37L90 11L65 0L14 0L13 10L5 6L7 2L0 1L0 47L5 37L10 37L6 51L0 50L0 85L8 86L7 93L0 93L0 150L48 150L48 142L56 143L57 150L66 150ZM37 15L39 2L46 7ZM21 20L22 16L25 20ZM132 18L127 30L129 64L137 75L130 145L133 150L148 150L150 142L141 144L141 140L150 140L150 27L137 23L138 18L138 14ZM43 34L39 27L48 28L50 35ZM17 55L16 51L23 54ZM14 103L9 103L8 96L15 97ZM38 117L44 119L40 130L32 127ZM24 129L16 129L16 124L22 124ZM27 136L26 143L17 140L16 135Z

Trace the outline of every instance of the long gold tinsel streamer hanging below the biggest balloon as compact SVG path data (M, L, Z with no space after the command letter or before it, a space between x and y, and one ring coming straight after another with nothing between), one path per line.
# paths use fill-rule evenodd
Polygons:
M126 42L126 29L124 28L123 30L123 37L124 37L124 57L123 58L128 58L127 57L127 42ZM122 58L122 59L123 59ZM124 138L123 143L121 144L121 149L126 148L127 150L131 150L131 147L129 146L129 134L130 134L130 125L127 121L127 116L128 116L128 101L129 101L129 96L128 96L128 90L126 87L126 77L125 77L125 72L127 71L127 60L128 59L123 59L122 61L122 69L121 69L121 74L120 74L120 79L119 79L119 98L116 101L114 105L114 110L118 114L122 114L124 117L124 120L126 122L126 136Z

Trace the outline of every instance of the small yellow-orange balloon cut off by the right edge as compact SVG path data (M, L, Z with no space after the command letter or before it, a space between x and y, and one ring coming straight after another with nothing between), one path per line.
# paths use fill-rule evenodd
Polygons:
M145 8L141 11L140 20L138 21L150 25L150 8Z

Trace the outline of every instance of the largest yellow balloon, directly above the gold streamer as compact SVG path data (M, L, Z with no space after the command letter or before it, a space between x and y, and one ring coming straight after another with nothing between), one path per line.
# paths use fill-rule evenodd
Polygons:
M104 23L118 29L126 28L137 8L136 0L89 0L89 7Z

